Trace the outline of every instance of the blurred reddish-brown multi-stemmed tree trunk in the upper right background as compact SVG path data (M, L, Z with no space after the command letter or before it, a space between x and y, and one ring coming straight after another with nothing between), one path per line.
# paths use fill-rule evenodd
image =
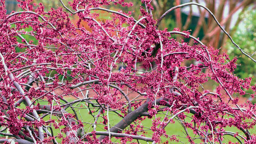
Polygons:
M176 4L181 4L182 0L176 0ZM195 0L196 3L200 3L200 1ZM248 8L249 5L255 4L256 2L254 0L204 0L206 7L215 15L219 23L222 27L225 28L225 30L230 33L230 23L232 19L232 16L234 13L236 13L238 10L241 10L241 12L244 12L246 8ZM219 2L219 3L217 3ZM224 18L224 9L225 6L229 7L229 12L226 14L227 16ZM181 31L188 30L189 23L191 23L191 13L193 10L190 7L190 12L188 14L186 22L182 23L182 16L181 16L181 10L176 9L175 16L176 16L176 24ZM206 14L207 11L203 8L199 8L200 17L197 21L196 27L192 30L192 35L194 37L198 37L200 30L203 30L203 37L200 39L203 43L207 43L207 46L213 46L215 48L222 47L226 40L227 36L224 35L217 25L217 23L214 21L212 16L208 16L208 20L206 20ZM239 24L241 19L238 18L236 25ZM231 33L232 34L232 33ZM190 40L189 43L192 45L193 40Z

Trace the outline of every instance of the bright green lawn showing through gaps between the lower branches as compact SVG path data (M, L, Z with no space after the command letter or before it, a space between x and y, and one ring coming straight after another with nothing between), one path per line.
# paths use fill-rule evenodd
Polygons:
M66 99L67 99L67 101L71 101L71 100L72 100L71 97L70 97L70 98L66 98ZM39 103L40 103L41 105L48 105L48 102L47 102L47 101L41 101L41 102L39 102ZM80 106L83 105L83 104L84 104L84 103L82 102L82 103L77 104L76 106L77 106L77 107L80 107ZM73 105L73 106L75 106L75 105ZM21 105L20 107L23 107L23 108L24 108L25 106L24 106L24 105ZM80 109L80 110L79 110L78 108L75 108L75 110L77 111L77 114L78 114L80 120L83 121L83 122L93 123L93 122L94 122L93 116L91 116L91 115L89 114L88 109L84 109L84 108L85 108L84 105L83 105L82 109ZM96 110L96 109L95 109L95 110ZM70 110L70 109L67 109L67 111L68 111L69 113L73 113L73 111ZM94 114L97 114L97 113L98 113L98 112L95 112ZM105 112L104 115L106 115L106 112ZM192 114L188 114L188 115L189 115L189 117L192 116ZM163 115L161 115L161 117L162 117L162 116L163 116ZM48 121L49 119L50 119L50 116L46 116L46 117L44 118L45 121ZM55 116L52 116L52 119L57 120L57 118L56 118ZM122 120L122 118L120 118L116 113L113 113L112 111L109 111L109 119L110 119L110 126L114 126L115 124L117 124L119 121ZM148 127L148 129L149 129L149 128L151 127L151 125L152 125L152 120L154 120L154 118L152 118L152 119L146 118L146 120L142 121L142 125L145 126L145 127ZM188 122L191 121L191 119L189 119L188 117L187 117L185 120L188 121ZM99 119L98 119L98 121L97 121L98 125L97 125L97 128L96 128L96 131L105 131L105 129L103 129L104 126L99 124L100 121L103 121L103 118L102 118L102 117L99 117ZM61 128L63 128L63 126L62 126ZM144 128L144 129L147 129L147 128ZM93 131L93 127L92 127L91 124L86 124L86 123L84 123L84 130L85 130L86 133L92 132L92 131ZM234 128L234 127L232 127L232 128L227 127L226 130L227 130L227 131L231 131L231 132L239 132L241 135L243 135L243 133L242 133L239 129ZM175 120L175 123L174 123L174 124L169 124L169 125L167 125L166 128L165 128L165 131L166 131L166 133L169 134L170 136L176 135L177 138L178 138L180 141L182 141L183 143L186 143L186 144L189 143L188 140L187 140L186 138L184 138L184 137L186 137L184 128L182 127L182 125L181 125L177 120ZM250 131L253 132L253 130L250 130ZM147 132L146 137L151 137L152 134L153 134L153 132L152 132L151 130L147 130L146 132ZM209 131L209 132L210 132L210 131ZM59 130L59 129L53 129L53 133L54 133L54 134L60 133L60 130ZM189 133L189 136L191 136L191 137L198 137L198 136L196 136L195 134L193 134L193 132L192 132L191 129L188 129L188 133ZM142 134L142 133L139 132L138 134ZM65 135L64 135L64 136L65 136ZM178 136L181 136L181 137L178 137ZM4 137L4 136L1 136L1 135L0 135L0 137ZM223 136L223 139L224 139L224 140L223 140L223 143L227 143L228 141L232 141L232 142L236 142L236 141L237 141L234 137L229 136L229 135ZM165 142L166 140L169 140L169 138L166 139L165 137L161 137L161 143ZM61 140L60 140L60 139L57 139L57 141L58 141L59 143L61 143ZM120 139L116 139L115 137L112 137L112 141L120 142ZM132 142L137 143L137 140L132 140ZM178 142L178 143L182 143L182 142ZM147 144L147 142L142 141L142 140L139 140L139 143ZM149 143L151 143L151 142L149 142ZM171 143L173 144L173 143L176 143L176 142L171 142ZM202 142L201 142L199 139L197 139L197 140L195 140L195 143L202 143Z

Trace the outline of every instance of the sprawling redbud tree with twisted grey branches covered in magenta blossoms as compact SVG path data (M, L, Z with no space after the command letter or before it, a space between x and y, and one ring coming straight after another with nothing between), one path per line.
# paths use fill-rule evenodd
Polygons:
M104 8L132 5L123 0L61 1L48 12L42 4L18 1L23 11L6 15L4 0L0 7L0 143L178 142L165 130L174 125L183 126L190 143L222 143L226 135L255 143L256 105L238 104L234 96L256 86L233 73L237 58L218 55L188 31L157 30L168 12L202 5L178 5L155 20L151 0L142 0L147 7L135 20L130 12ZM109 19L99 19L101 11ZM75 24L72 15L79 17ZM191 59L199 64L182 66ZM208 81L218 84L216 90L204 89ZM120 118L110 121L113 113Z

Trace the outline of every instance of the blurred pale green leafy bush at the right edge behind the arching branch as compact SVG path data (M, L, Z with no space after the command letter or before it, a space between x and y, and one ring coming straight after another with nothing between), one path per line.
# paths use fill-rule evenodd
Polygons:
M240 46L241 49L253 54L252 57L256 58L256 10L248 10L242 13L241 23L235 27L232 38L234 42ZM245 77L253 77L252 84L256 84L256 64L251 59L243 55L240 50L236 49L231 41L227 41L225 49L229 54L230 59L239 57L237 60L237 69L235 74L244 79ZM250 55L251 56L251 55Z

